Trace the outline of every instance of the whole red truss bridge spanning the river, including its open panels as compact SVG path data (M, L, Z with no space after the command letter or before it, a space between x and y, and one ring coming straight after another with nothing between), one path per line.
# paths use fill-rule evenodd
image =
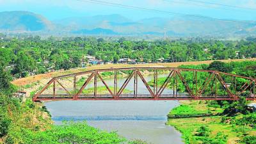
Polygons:
M110 83L104 79L106 73L113 77ZM152 77L150 83L145 79L146 74ZM118 79L119 76L125 77L123 81ZM140 87L144 85L144 93L140 93L138 81L143 82ZM33 100L238 100L239 97L256 100L255 81L252 77L214 70L108 68L53 77Z

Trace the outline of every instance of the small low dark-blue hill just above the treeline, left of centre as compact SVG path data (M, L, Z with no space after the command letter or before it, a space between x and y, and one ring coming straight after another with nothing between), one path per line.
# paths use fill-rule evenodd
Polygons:
M74 34L79 35L118 35L115 31L112 31L111 29L102 29L102 28L96 28L92 30L88 29L81 29L79 31L72 31Z

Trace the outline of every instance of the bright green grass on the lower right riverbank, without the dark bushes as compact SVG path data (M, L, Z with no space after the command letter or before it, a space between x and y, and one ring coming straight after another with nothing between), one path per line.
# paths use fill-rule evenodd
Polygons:
M182 108L182 106L188 106L189 110ZM215 111L215 108L207 107L204 101L184 100L181 101L181 105L179 107L170 111L170 114L205 113L208 109ZM221 112L221 109L216 109L215 112ZM227 143L238 143L237 140L241 140L242 138L242 129L246 129L250 135L256 135L256 129L252 129L248 126L223 124L221 123L221 117L222 116L209 116L205 118L175 118L169 119L166 124L172 125L179 130L186 143L200 143L200 141L196 140L195 133L202 125L207 125L212 131L210 134L211 138L214 138L218 132L223 132L223 134L227 135Z

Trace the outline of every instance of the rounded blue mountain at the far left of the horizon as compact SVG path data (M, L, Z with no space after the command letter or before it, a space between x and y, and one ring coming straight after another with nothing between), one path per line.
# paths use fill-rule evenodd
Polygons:
M0 12L0 31L42 31L52 29L52 23L31 12Z

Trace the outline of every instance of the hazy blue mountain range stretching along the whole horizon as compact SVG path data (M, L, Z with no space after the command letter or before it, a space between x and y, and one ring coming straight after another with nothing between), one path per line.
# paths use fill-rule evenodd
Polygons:
M118 14L48 20L36 13L15 11L0 12L0 32L49 35L252 36L256 35L256 21L188 16L131 20Z

